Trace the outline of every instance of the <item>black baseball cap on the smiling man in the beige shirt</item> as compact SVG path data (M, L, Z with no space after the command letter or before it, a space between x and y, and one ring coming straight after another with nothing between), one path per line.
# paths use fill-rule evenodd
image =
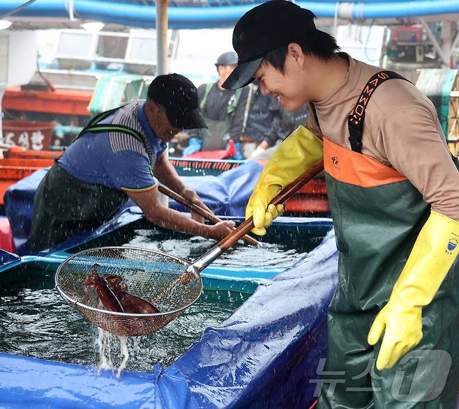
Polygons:
M234 26L233 48L239 61L223 88L236 89L253 82L263 57L315 30L315 15L285 0L271 0L248 10Z

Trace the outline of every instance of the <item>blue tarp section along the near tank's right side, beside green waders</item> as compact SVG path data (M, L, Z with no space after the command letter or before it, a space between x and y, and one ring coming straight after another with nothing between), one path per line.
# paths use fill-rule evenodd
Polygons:
M333 231L292 268L262 284L170 369L202 408L308 408L326 357L326 310L335 292Z

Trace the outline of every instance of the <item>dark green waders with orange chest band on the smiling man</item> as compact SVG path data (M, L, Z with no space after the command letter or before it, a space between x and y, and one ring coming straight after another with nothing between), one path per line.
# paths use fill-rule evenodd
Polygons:
M366 88L366 98L377 86ZM324 137L338 286L328 311L329 350L317 409L453 409L459 380L458 261L423 308L419 344L392 369L379 373L374 367L380 343L370 346L368 331L389 300L430 205L396 169L361 153L360 118L354 122L360 144L353 149Z

